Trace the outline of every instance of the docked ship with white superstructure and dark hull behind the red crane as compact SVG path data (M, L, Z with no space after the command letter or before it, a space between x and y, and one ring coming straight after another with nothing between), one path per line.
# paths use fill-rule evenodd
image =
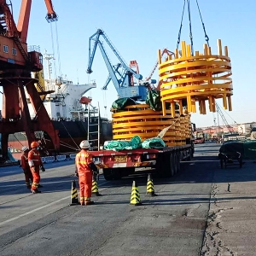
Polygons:
M48 73L50 73L51 58L45 54ZM58 154L72 154L78 152L79 143L87 139L90 142L90 150L98 150L103 143L112 140L112 121L102 117L99 104L93 104L90 96L85 96L89 90L96 88L96 82L90 84L73 84L67 77L59 76L57 79L44 79L44 71L33 73L38 79L36 86L49 92L41 96L44 107L49 114L52 124L60 137L60 152ZM41 84L41 85L40 85ZM31 118L36 118L32 103L27 95L27 104ZM35 137L40 143L42 153L46 155L56 154L54 145L47 133L35 131ZM9 134L9 149L15 158L19 159L21 148L29 146L25 132Z

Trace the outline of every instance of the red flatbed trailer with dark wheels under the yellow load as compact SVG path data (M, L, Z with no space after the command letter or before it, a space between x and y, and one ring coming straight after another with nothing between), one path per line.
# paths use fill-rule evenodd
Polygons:
M180 170L181 160L191 160L194 154L193 143L155 148L137 148L131 150L90 151L95 164L103 170L106 180L119 179L131 175L138 168L151 167L158 177L172 177Z

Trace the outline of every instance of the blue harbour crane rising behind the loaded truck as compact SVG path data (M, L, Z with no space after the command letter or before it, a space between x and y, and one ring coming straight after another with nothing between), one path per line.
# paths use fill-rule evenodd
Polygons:
M117 65L112 65L109 57L107 55L106 50L103 47L102 41L100 38L104 38L105 41L107 42L108 46L110 49L113 50L114 55L117 56L119 59L119 63ZM91 49L91 41L94 41L93 48ZM92 73L91 66L92 62L94 60L94 56L96 54L96 48L99 46L103 59L105 61L106 66L108 67L108 79L105 83L105 85L102 87L102 90L107 90L108 84L110 80L113 81L113 85L115 87L115 90L117 90L119 97L130 97L135 100L141 100L144 101L147 96L147 88L149 83L154 84L156 81L142 81L143 76L140 73L137 73L134 71L131 67L128 67L119 55L119 52L117 49L114 48L113 44L111 44L110 40L108 39L107 35L105 32L102 31L102 29L98 29L96 33L94 33L90 38L89 38L89 61L88 61L88 68L87 68L87 73ZM119 68L122 67L123 72L119 72ZM117 76L118 75L118 76ZM131 83L131 77L135 77L138 79L139 83L138 85L134 85ZM119 77L119 78L118 78Z

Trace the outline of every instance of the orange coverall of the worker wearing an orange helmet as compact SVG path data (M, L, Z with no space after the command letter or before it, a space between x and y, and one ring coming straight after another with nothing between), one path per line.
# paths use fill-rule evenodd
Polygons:
M32 148L32 150L28 153L28 165L30 166L30 170L33 176L33 183L31 189L38 189L38 184L40 182L40 166L43 166L40 154L38 149ZM33 169L35 171L33 171Z

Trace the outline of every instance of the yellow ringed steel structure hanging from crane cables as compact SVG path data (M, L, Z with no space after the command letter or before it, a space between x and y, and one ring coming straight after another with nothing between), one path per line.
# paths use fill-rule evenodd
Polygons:
M222 98L224 109L232 110L233 86L228 47L224 47L223 55L220 39L217 44L218 55L212 55L207 44L204 44L203 54L195 51L192 55L190 44L183 41L181 51L176 49L174 57L168 55L168 60L163 62L159 50L160 96L164 116L167 115L166 102L171 103L172 116L175 116L175 102L179 104L180 113L184 107L189 113L195 113L195 102L199 102L200 113L206 114L206 101L209 110L215 112L215 99ZM186 106L183 106L183 99L187 102Z

